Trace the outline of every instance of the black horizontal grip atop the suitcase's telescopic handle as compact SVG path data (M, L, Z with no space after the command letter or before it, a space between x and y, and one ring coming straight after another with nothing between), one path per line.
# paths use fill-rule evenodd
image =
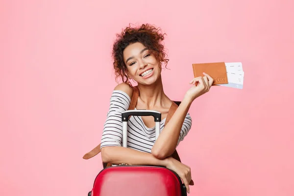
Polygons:
M161 122L161 113L155 110L127 110L122 112L122 121L127 122L129 116L153 116L154 122Z

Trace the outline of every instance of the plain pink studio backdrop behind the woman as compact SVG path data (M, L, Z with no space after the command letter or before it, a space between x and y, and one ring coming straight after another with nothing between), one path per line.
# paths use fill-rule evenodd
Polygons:
M191 196L294 195L294 1L0 2L0 195L86 196L116 83L111 47L128 23L168 34L165 92L181 100L192 63L242 62L244 89L195 100L178 147ZM177 78L172 79L172 78Z

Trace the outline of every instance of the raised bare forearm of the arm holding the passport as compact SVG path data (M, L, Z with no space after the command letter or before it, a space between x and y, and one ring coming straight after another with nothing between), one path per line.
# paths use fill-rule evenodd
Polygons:
M152 147L152 154L157 158L164 159L165 157L172 155L174 152L191 103L191 99L185 97L172 115L169 123L166 124L160 133Z

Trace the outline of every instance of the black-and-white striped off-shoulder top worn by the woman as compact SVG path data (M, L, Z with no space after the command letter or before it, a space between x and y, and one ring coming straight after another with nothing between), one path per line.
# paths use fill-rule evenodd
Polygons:
M122 112L128 109L130 101L131 98L125 92L120 90L114 90L112 92L109 111L102 132L100 148L123 146ZM160 122L160 132L164 128L165 121L166 118ZM188 113L182 125L177 145L188 134L191 126L192 119ZM155 126L149 128L144 124L141 116L131 116L128 121L127 129L127 147L151 153L151 148L155 143Z

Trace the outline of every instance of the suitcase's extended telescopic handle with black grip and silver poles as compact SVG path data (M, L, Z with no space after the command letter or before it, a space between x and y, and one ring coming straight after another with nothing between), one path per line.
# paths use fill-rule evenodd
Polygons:
M129 116L153 116L155 122L155 140L160 132L161 113L155 110L126 110L122 112L123 121L123 147L127 147L127 122Z

